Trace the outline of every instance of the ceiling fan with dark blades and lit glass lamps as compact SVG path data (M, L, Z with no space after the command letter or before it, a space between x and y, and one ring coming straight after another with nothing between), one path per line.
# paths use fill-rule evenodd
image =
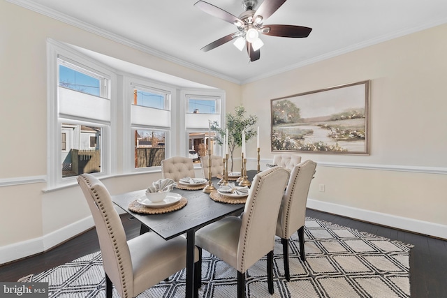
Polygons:
M299 38L309 36L312 31L312 28L309 27L263 24L286 0L264 0L257 10L254 10L254 8L258 4L258 0L242 1L245 11L239 17L205 1L200 0L194 4L194 6L200 8L205 13L219 17L221 20L234 24L237 27L237 32L214 40L200 50L208 52L215 47L219 47L219 45L228 43L230 40L235 40L234 45L241 51L244 49L244 45L246 45L250 61L256 61L261 57L259 49L264 44L261 38L259 38L259 33L270 36Z

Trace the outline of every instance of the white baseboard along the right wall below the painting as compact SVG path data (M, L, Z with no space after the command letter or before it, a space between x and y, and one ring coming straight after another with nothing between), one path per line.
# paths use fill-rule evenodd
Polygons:
M310 209L316 209L319 211L358 219L360 221L377 223L378 225L386 225L391 228L447 239L447 225L440 225L439 223L419 221L413 218L384 214L312 199L307 200L307 207Z

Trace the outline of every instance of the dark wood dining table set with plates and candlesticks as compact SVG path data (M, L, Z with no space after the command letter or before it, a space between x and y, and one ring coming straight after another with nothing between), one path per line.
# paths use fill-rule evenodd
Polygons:
M256 173L256 170L247 171L250 181ZM218 181L219 179L217 178L212 179L212 184L215 188L219 188L217 185ZM196 298L198 297L198 288L194 285L194 275L196 274L194 270L196 231L231 214L240 214L244 210L244 204L217 202L210 198L209 193L204 193L201 189L191 191L173 188L171 192L178 193L187 200L186 205L182 209L162 214L143 214L129 210L129 204L145 197L145 191L145 189L142 189L112 195L112 201L140 221L143 228L158 234L165 240L186 234L186 298Z

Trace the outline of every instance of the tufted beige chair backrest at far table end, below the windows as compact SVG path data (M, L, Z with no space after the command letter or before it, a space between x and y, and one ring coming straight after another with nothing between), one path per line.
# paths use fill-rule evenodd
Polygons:
M161 161L161 174L163 178L173 179L177 182L184 177L196 177L193 160L183 156L163 159Z

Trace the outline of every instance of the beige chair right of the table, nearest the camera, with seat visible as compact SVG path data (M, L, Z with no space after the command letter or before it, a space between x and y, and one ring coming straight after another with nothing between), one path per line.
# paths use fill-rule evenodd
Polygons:
M268 290L273 294L274 231L288 172L272 167L256 174L242 216L227 216L196 232L196 246L237 269L237 297L244 297L245 272L267 255ZM201 258L199 257L199 262Z

